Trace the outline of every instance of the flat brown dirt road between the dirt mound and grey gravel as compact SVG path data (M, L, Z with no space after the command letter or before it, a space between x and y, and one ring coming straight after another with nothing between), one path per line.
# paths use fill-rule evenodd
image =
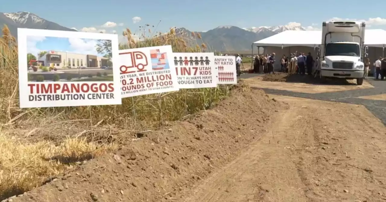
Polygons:
M361 105L274 97L291 109L179 201L386 200L386 128L374 115Z

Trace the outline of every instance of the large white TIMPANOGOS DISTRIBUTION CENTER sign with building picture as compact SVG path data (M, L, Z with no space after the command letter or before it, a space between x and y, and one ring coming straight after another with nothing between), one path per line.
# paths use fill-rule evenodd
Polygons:
M17 29L20 108L122 103L118 35Z

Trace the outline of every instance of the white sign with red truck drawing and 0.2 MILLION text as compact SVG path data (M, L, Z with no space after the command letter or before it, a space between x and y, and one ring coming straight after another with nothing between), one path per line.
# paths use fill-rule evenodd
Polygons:
M122 98L177 91L170 45L119 50Z

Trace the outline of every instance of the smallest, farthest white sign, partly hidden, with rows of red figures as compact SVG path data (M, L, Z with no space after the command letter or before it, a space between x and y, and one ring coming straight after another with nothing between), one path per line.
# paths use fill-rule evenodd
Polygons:
M218 84L237 84L234 56L215 56L215 66L218 69Z

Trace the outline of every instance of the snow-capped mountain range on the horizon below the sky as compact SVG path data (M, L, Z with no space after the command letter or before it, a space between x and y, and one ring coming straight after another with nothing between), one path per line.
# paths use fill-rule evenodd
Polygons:
M48 30L76 31L71 28L63 27L57 23L43 19L34 13L16 12L0 13L0 27L7 25L14 37L17 37L17 28L34 28ZM186 28L176 28L176 33L185 35L191 40L191 45L205 43L210 50L216 51L247 51L251 50L252 42L270 37L276 33L286 30L306 30L304 27L294 25L283 25L274 27L251 27L239 28L236 26L220 26L206 32L200 33L201 39L192 39L191 30ZM201 42L202 40L202 42Z

